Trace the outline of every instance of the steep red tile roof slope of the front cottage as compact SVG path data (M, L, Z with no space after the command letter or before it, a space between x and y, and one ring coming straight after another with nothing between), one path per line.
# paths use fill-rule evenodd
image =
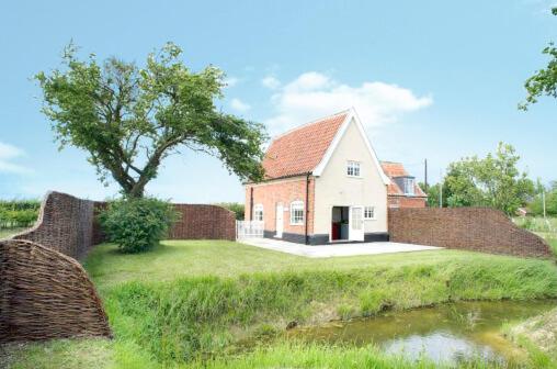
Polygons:
M349 112L302 125L273 139L263 159L266 179L305 175L321 161Z

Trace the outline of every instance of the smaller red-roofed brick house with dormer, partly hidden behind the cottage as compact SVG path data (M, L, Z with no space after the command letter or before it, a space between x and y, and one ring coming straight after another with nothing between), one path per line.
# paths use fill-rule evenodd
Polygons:
M406 171L402 164L382 161L380 166L390 179L387 188L389 208L425 208L428 195L416 183L416 177Z

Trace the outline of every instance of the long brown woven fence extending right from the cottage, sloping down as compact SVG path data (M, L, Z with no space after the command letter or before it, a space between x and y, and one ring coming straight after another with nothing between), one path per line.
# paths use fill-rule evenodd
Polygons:
M549 245L486 208L389 209L390 241L520 257L549 257Z

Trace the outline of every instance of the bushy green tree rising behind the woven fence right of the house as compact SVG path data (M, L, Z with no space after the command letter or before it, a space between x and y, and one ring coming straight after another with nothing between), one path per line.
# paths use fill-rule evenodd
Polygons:
M514 214L534 193L534 183L520 172L520 156L500 143L495 154L452 163L444 179L448 206L490 206Z

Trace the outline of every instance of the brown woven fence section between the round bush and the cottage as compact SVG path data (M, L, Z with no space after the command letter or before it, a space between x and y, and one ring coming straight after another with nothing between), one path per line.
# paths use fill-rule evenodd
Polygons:
M168 239L229 239L236 241L236 215L217 205L174 204L181 214Z

